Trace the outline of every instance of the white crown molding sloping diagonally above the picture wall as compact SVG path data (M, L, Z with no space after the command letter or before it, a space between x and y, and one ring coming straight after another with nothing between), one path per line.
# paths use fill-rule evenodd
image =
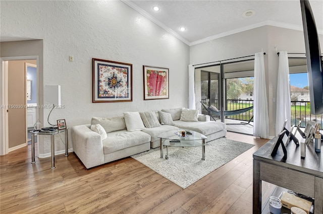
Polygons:
M165 24L161 23L159 20L155 19L153 16L151 16L145 10L142 10L141 8L139 8L136 4L133 4L129 0L121 0L121 2L125 3L126 5L128 5L129 7L131 7L132 9L137 11L138 13L140 13L141 15L145 16L147 19L149 19L150 21L152 21L153 23L155 23L159 27L163 28L164 30L166 30L167 32L169 32L170 34L172 34L173 36L175 36L176 38L178 38L179 40L181 40L185 44L190 45L189 41L184 39L182 36L180 36L178 33L173 31L171 28L167 27Z

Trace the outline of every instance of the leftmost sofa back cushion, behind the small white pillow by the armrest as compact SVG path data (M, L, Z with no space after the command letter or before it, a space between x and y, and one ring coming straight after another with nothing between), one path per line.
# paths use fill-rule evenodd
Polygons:
M126 129L125 118L120 117L111 117L111 118L102 118L102 117L92 117L91 125L100 124L106 133L118 130Z

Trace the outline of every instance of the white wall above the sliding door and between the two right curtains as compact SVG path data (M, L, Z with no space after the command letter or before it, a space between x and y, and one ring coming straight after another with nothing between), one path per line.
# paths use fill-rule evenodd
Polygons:
M323 36L319 35L320 49L323 49ZM279 57L277 51L305 53L304 33L302 31L263 26L230 36L214 39L190 48L190 64L218 61L234 57L266 52L265 79L268 100L270 136L275 136L277 76Z

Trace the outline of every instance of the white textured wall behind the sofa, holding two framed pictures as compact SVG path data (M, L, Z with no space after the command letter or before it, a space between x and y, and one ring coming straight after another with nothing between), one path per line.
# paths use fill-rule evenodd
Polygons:
M189 47L120 1L2 1L1 36L43 40L43 86L61 85L65 105L51 118L69 127L92 116L188 107ZM133 64L133 102L92 103L92 58ZM170 99L143 100L142 65L170 69ZM45 142L40 154L49 152Z

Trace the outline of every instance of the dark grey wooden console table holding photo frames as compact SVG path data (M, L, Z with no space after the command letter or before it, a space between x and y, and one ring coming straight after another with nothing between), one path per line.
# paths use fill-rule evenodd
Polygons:
M281 146L271 156L277 136L253 154L253 214L261 213L261 181L315 198L314 213L323 213L323 157L315 153L314 145L306 147L305 159L300 158L300 147L290 142L286 147L287 160Z

